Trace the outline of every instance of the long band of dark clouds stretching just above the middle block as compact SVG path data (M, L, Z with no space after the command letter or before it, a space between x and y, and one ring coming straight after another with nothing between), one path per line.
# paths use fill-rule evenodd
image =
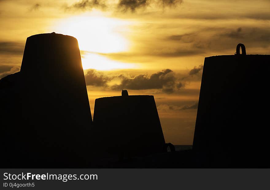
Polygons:
M194 67L191 70L190 75L199 73L199 67ZM93 85L97 87L107 87L112 90L148 90L148 89L157 89L157 93L190 93L184 92L184 87L186 82L189 81L187 73L186 77L181 77L182 74L174 73L170 69L164 69L162 71L156 72L152 75L147 74L138 74L136 76L128 76L126 74L105 74L94 69L85 70L85 81L86 85ZM180 78L181 77L181 78ZM191 77L190 77L191 78ZM113 79L120 79L120 84L114 84L109 86L108 82ZM184 80L185 79L185 80ZM194 80L191 80L194 81ZM193 94L194 92L192 92ZM195 92L197 93L197 91Z

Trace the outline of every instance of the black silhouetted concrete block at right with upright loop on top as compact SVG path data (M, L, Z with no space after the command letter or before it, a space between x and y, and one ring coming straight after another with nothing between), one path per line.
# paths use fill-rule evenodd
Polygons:
M270 55L244 55L244 48L240 55L239 48L204 60L193 141L200 166L270 166Z

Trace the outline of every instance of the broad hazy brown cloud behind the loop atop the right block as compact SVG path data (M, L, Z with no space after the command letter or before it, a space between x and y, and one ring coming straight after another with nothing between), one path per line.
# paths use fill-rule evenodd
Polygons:
M270 47L270 30L269 27L241 25L237 28L211 26L198 28L190 33L176 33L164 37L163 40L167 40L167 47L160 49L155 47L152 55L162 57L202 55L206 57L229 52L233 55L238 43L246 45L248 54L267 54L267 48ZM251 49L252 51L249 51Z

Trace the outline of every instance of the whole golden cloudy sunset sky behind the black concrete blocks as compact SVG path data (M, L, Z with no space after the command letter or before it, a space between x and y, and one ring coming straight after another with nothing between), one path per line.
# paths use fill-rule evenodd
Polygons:
M0 78L19 71L28 36L77 38L95 99L154 95L166 142L192 144L204 57L269 54L270 1L0 0Z

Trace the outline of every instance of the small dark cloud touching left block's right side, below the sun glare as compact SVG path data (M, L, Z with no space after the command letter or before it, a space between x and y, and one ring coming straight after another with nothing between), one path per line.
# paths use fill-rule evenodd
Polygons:
M92 86L107 86L107 82L111 80L110 77L105 76L101 72L96 71L95 69L88 69L84 75L86 85Z

